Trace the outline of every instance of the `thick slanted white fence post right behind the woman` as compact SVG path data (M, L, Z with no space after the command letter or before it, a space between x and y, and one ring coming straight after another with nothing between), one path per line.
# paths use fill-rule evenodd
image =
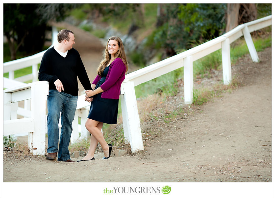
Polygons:
M124 90L124 94L121 95L123 131L126 143L130 142L131 151L135 153L144 150L144 147L134 82L123 82L122 88Z

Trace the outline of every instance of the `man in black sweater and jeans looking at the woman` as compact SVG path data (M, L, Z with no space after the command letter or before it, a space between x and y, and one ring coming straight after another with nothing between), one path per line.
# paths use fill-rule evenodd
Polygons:
M47 159L74 162L70 158L69 143L73 131L72 122L78 99L78 80L85 90L91 90L87 72L76 49L70 30L58 32L58 44L48 49L41 60L38 79L49 82L47 97L48 148ZM60 115L61 112L61 115ZM58 123L61 117L61 133L58 149Z

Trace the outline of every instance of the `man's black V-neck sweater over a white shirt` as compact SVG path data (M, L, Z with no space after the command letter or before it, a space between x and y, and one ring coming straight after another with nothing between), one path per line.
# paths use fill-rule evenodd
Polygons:
M49 89L56 90L53 83L59 79L63 84L65 93L78 96L77 77L85 90L92 90L87 72L76 49L68 50L66 57L61 56L53 47L44 53L38 80L48 81Z

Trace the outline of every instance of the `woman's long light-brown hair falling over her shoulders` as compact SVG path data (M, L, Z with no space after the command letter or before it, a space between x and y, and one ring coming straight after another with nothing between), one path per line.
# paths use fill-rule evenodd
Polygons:
M126 66L126 72L128 71L128 62L127 62L126 55L124 52L123 42L122 42L121 38L119 38L118 36L113 36L113 37L109 38L106 48L105 48L105 57L102 59L102 61L100 62L99 66L98 66L98 75L99 76L102 76L104 69L108 66L108 63L111 60L111 54L109 54L109 52L108 52L108 43L110 40L116 40L118 42L119 50L117 51L117 53L115 53L115 59L121 58L121 60L123 61L123 63Z

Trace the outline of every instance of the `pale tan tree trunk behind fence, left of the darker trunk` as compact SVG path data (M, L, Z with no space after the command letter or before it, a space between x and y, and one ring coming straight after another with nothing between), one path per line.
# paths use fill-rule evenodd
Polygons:
M227 3L227 22L225 32L238 26L239 9L239 3Z

